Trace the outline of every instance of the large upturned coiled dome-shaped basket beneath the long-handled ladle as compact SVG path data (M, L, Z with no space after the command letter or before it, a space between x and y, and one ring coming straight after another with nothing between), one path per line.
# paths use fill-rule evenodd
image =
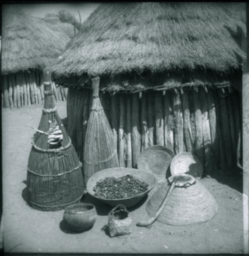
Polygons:
M152 195L146 205L148 215L153 217L169 188L164 186ZM170 225L189 225L212 219L218 212L218 204L207 188L199 181L185 188L175 187L169 195L157 221Z

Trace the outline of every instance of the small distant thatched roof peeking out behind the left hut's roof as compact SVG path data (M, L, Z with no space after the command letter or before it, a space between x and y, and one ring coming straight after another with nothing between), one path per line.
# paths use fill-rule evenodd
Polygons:
M61 22L58 14L51 14L50 16L44 17L43 20L46 21L53 30L64 32L70 39L74 37L74 26L66 22ZM76 29L76 33L77 32L78 30Z

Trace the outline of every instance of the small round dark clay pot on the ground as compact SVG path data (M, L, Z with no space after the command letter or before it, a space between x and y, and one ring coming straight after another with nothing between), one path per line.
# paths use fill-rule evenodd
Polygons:
M93 204L79 203L68 206L63 220L74 231L86 231L96 222L97 212Z

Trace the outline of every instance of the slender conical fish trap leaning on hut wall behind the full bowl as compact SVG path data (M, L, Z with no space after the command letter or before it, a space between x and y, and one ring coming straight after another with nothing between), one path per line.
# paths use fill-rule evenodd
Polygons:
M84 143L84 182L97 171L119 167L116 141L99 98L100 78L92 79L93 103Z

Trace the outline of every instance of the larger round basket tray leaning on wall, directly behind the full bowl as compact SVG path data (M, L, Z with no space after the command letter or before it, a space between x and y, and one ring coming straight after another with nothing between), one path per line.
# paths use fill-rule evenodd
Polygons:
M137 159L139 170L151 172L157 180L165 180L174 153L166 146L154 145L141 152Z

